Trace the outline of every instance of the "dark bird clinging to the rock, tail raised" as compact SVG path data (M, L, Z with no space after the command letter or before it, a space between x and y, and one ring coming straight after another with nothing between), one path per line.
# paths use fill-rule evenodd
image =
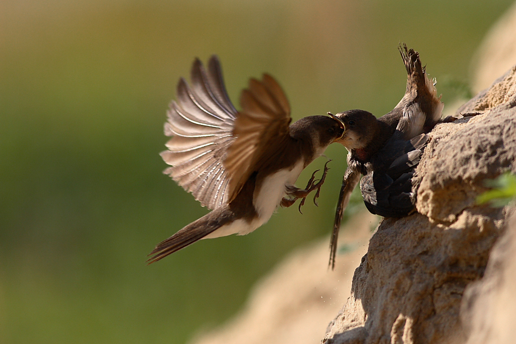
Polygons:
M407 89L396 107L380 118L364 110L335 115L345 125L337 142L348 150L330 243L330 265L335 266L337 236L351 192L360 182L367 209L384 217L402 217L414 209L411 177L428 143L426 133L441 122L444 104L437 96L419 54L398 46L407 70ZM446 119L451 120L451 119Z

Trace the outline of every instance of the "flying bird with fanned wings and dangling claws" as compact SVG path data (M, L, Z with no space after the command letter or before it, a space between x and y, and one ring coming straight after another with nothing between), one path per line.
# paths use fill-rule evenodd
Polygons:
M237 111L216 56L207 71L199 59L193 62L191 85L179 81L178 99L165 124L165 135L172 139L161 156L172 166L164 173L213 210L157 244L149 264L199 239L248 234L267 222L278 205L291 206L319 191L326 166L321 179L311 178L306 189L294 183L344 132L339 120L327 116L290 124L287 98L267 74L250 79Z

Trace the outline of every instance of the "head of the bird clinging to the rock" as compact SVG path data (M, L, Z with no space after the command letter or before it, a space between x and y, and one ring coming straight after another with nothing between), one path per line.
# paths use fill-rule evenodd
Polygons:
M362 149L373 140L378 123L372 113L354 109L328 114L343 126L344 132L335 142L345 146L348 151Z

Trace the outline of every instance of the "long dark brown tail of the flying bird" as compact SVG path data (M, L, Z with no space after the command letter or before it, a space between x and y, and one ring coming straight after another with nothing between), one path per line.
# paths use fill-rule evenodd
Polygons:
M189 244L213 233L232 220L234 220L234 214L228 205L223 205L208 212L208 214L204 215L202 218L184 226L170 238L158 243L149 254L149 256L152 257L147 260L147 263L152 264L159 259L165 258L169 254L187 247Z

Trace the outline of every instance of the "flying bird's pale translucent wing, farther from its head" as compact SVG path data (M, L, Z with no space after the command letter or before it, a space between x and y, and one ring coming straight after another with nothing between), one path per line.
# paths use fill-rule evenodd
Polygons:
M227 202L228 171L222 161L233 141L236 109L225 90L220 62L212 56L206 71L193 62L191 84L181 78L177 101L170 104L165 135L172 136L160 155L164 171L191 192L202 206L215 209Z

